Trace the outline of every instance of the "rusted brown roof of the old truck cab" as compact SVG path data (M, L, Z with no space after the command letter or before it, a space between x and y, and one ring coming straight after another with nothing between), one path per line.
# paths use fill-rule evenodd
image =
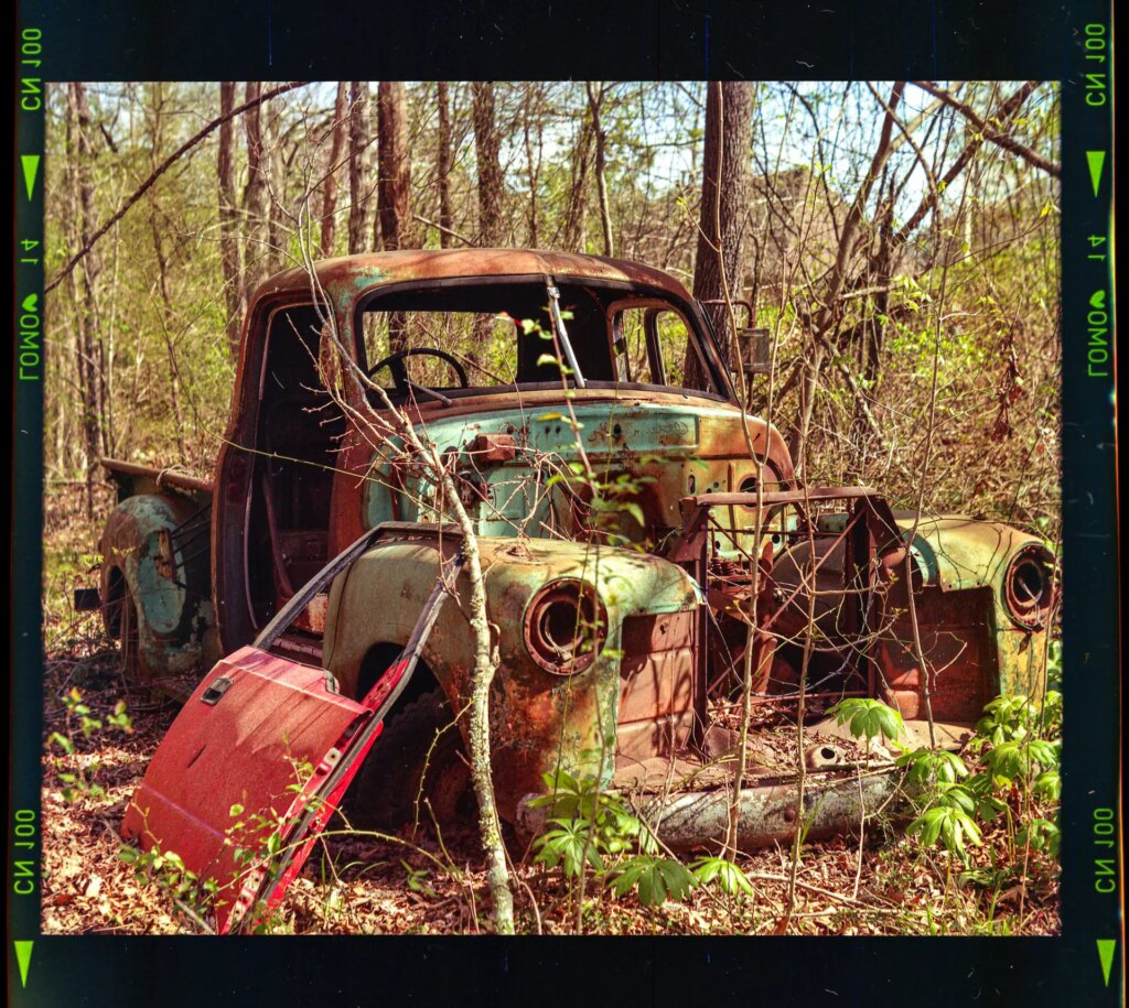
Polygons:
M413 280L454 280L471 276L549 275L559 278L618 281L657 288L689 299L686 289L668 273L607 256L542 251L525 248L403 249L321 259L313 264L322 286L340 297L369 286ZM292 267L264 281L257 295L309 290L305 267Z

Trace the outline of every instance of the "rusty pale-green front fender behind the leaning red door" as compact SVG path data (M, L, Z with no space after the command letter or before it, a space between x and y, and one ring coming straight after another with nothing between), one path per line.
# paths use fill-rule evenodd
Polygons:
M360 670L375 646L408 639L445 548L434 539L380 542L338 576L330 592L323 662L344 696L356 697L364 688ZM542 788L543 775L557 767L610 781L624 686L624 624L639 616L692 614L699 596L685 572L647 554L491 537L479 538L479 550L499 660L490 701L495 789L499 812L513 820L519 799ZM598 655L566 674L539 666L526 639L533 600L562 583L586 584L598 594L606 633ZM444 608L422 653L456 713L466 708L472 690L469 589L464 571L456 586L460 604ZM465 718L460 728L465 739Z

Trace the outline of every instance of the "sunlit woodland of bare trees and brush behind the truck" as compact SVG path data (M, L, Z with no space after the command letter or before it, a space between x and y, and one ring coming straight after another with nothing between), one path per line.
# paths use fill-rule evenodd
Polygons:
M103 454L208 471L248 295L304 253L586 251L719 298L720 248L774 342L750 406L807 478L1053 536L1058 108L1033 81L56 85L49 497L95 515Z

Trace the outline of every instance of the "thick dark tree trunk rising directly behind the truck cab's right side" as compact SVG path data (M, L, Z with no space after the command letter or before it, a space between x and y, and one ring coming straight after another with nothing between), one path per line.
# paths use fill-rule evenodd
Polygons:
M752 122L751 85L714 81L707 86L702 203L694 257L694 297L701 301L733 299L741 293ZM732 359L735 334L728 308L712 304L706 311L723 352ZM691 347L686 347L683 374L688 388L700 388L704 381Z

